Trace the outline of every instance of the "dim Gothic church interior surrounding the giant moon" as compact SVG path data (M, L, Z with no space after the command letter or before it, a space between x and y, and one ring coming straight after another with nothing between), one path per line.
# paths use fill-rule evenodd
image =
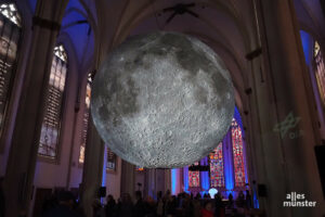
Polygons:
M182 168L122 159L91 117L107 53L154 31L206 43L234 86L223 140ZM80 215L57 216L325 216L324 0L0 0L0 217L66 194Z

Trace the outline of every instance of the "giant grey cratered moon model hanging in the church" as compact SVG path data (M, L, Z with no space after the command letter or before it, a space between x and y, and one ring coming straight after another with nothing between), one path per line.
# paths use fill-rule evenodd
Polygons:
M95 75L91 114L118 156L147 168L183 167L208 155L230 128L234 89L220 58L176 33L133 36Z

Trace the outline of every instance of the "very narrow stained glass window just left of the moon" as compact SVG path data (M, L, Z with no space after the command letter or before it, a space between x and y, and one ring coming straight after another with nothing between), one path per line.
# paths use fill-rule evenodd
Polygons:
M91 74L88 76L88 82L86 88L86 98L84 98L84 112L82 118L82 135L81 135L81 145L79 153L79 164L84 162L84 151L87 142L87 132L88 132L88 123L89 123L89 108L90 108L90 97L91 97Z

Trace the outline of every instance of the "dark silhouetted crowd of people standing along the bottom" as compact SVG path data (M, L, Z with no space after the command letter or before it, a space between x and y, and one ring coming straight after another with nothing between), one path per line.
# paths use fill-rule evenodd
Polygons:
M140 191L135 192L134 202L128 193L115 201L108 195L106 204L102 205L100 200L92 204L93 217L247 217L256 216L251 207L249 191L244 194L239 192L236 200L229 194L223 200L220 193L211 199L209 194L203 197L199 193L180 193L171 195L169 191L162 195L158 192L156 200L151 196L142 197ZM43 217L82 217L82 212L70 192L62 192L56 197L48 200L43 205ZM260 215L257 215L260 216Z

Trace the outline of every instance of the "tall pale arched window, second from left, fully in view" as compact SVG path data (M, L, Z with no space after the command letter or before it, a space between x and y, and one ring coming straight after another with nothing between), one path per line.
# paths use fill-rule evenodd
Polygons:
M54 48L49 80L49 95L38 149L39 155L50 158L56 158L57 156L66 73L67 54L61 44Z

